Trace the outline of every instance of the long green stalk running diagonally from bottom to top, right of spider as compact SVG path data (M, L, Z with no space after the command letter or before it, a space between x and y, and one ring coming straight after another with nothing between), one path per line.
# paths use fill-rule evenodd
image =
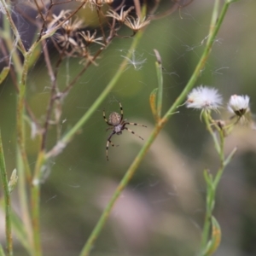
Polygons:
M218 0L216 2L218 2ZM217 4L216 2L215 2L215 4ZM163 119L160 119L158 124L155 126L154 130L152 131L152 133L150 134L150 136L148 138L148 141L143 145L143 148L141 148L141 150L137 154L137 157L132 162L128 171L125 173L125 176L120 181L118 188L113 193L112 198L110 199L110 201L108 201L107 207L102 212L102 216L98 220L96 227L94 228L94 230L92 230L92 233L90 234L88 241L85 243L85 245L82 249L82 252L80 253L80 256L88 256L90 254L90 250L93 247L93 245L96 241L96 238L99 236L100 232L102 231L103 226L106 224L106 222L108 220L108 216L110 214L110 211L113 208L115 201L117 201L117 199L119 198L119 195L125 189L125 186L129 183L129 181L131 180L131 177L133 177L134 173L137 171L137 166L139 166L139 164L143 160L143 157L147 153L148 148L150 148L151 144L154 142L154 139L157 137L157 135L159 134L159 132L161 131L163 126L166 124L166 121L168 119L170 119L171 114L175 112L177 106L183 102L183 100L189 93L189 90L191 90L193 88L193 86L195 85L196 80L198 79L198 77L201 74L201 70L203 69L203 67L206 64L207 58L212 49L212 44L214 43L214 39L215 39L217 32L222 24L222 21L224 19L224 15L227 11L228 6L229 6L229 3L225 3L224 7L221 11L221 17L219 17L220 19L213 20L214 22L212 21L209 39L207 41L207 46L201 56L199 63L195 67L195 71L192 74L191 78L189 79L188 84L185 86L185 88L182 91L182 93L180 94L180 96L177 97L177 100L172 104L172 107L166 112ZM216 10L214 9L212 15L215 15L215 11ZM212 29L212 27L213 27L213 29Z

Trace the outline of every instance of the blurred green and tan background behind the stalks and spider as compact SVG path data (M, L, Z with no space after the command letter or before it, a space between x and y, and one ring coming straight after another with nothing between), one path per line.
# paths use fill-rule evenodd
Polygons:
M166 9L165 3L161 9ZM184 9L154 20L144 32L128 65L108 98L90 121L73 138L61 155L49 162L42 186L41 223L45 255L78 255L106 206L113 190L125 174L143 141L124 131L114 136L118 148L105 147L110 131L102 119L119 112L122 102L125 119L147 125L131 126L145 140L154 126L148 98L157 87L154 50L164 67L164 110L183 90L204 49L213 1L195 0ZM218 88L224 102L233 94L248 95L256 113L256 3L238 1L230 6L218 33L206 68L197 85ZM83 15L83 14L80 14ZM26 27L24 27L26 29ZM126 29L120 32L130 34ZM119 68L132 38L116 38L101 58L91 66L63 102L61 133L65 133L86 112ZM57 53L51 53L55 60ZM59 83L64 85L79 69L77 59L61 67ZM14 86L6 80L0 88L0 120L3 147L9 173L15 169ZM38 119L43 119L49 100L49 78L44 60L32 67L27 101ZM229 114L221 109L223 118ZM200 113L181 107L161 131L139 166L130 185L119 198L108 224L96 241L93 256L195 255L205 211L206 185L203 169L218 169L212 139L200 120ZM220 118L220 114L216 115ZM226 153L238 147L234 160L224 172L218 188L215 217L223 237L216 255L256 255L256 133L237 126L226 139ZM38 141L27 127L26 149L34 166ZM48 148L55 144L55 128L49 132ZM13 194L19 212L17 191ZM3 218L2 218L3 219ZM4 230L1 228L4 239ZM17 243L15 247L19 248ZM26 255L20 247L17 255Z

